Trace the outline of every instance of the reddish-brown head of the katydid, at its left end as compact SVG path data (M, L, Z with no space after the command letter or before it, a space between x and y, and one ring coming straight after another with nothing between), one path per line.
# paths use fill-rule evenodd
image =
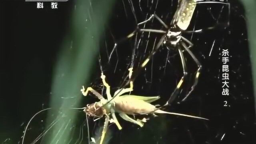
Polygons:
M84 112L88 114L88 116L96 116L101 118L106 114L106 110L98 104L98 102L87 104L86 108L84 109Z

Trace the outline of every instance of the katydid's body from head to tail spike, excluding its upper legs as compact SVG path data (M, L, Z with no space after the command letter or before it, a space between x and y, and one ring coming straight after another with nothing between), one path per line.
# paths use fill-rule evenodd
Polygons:
M178 114L172 112L165 112L163 110L158 110L156 106L150 104L150 102L154 102L158 100L159 96L135 96L135 95L123 95L117 98L114 98L110 102L108 100L100 100L100 102L95 102L90 106L93 108L93 105L96 107L96 110L93 108L94 113L101 113L98 117L104 116L104 114L109 114L110 112L117 112L124 120L133 122L138 124L139 126L143 126L141 121L128 120L124 118L125 115L144 115L144 114L174 114L179 116L187 116L191 118L199 118L208 120L206 118L201 118L197 116L190 116L186 114ZM90 109L89 108L89 109ZM100 112L103 111L103 112ZM126 117L126 116L125 116Z

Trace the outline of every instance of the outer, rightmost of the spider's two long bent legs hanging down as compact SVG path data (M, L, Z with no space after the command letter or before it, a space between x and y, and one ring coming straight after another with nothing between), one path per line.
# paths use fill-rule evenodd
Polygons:
M202 70L202 65L201 63L198 61L198 59L196 58L196 56L188 49L188 47L186 46L186 44L184 44L184 42L181 42L182 46L186 49L186 51L188 51L188 54L190 54L190 56L193 58L193 60L196 62L198 69L196 71L196 76L194 79L194 84L191 87L191 90L188 92L188 94L186 94L185 98L182 99L182 101L186 100L186 98L191 94L191 92L194 90L195 86L198 84L198 77L201 73Z

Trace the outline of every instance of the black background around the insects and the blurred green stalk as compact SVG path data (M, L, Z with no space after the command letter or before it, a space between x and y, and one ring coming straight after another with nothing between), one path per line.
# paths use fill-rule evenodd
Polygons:
M136 26L129 1L123 2L116 2L106 32L102 36L100 48L100 66L113 90L121 86L129 64L134 62L136 68L151 51L154 39L159 39L157 34L151 34L149 39L147 34L142 34L139 49L135 54L132 54L132 50L138 45L141 34L138 34L137 40L131 38L119 42L118 56L114 53L108 62L106 51L110 54L114 42L130 34ZM159 2L154 0L153 3L144 1L140 5L138 1L132 2L138 22L145 20L147 14L148 16L153 14L157 5L156 14L163 16L164 22L168 24L176 10L176 2L172 5L169 0ZM92 2L92 8L93 4ZM55 10L50 8L50 2L45 2L44 6L44 9L37 9L36 2L7 0L0 2L0 142L4 144L18 143L28 120L42 108L48 107L52 72L58 52L64 36L74 37L70 24L74 1L59 2L58 9ZM197 6L197 18L194 18L195 12L188 29L192 30L195 24L196 29L212 26L216 22L212 16L218 17L221 8L221 5L211 4ZM220 22L227 20L226 15L225 7L223 14L220 15ZM138 128L118 118L123 130L119 132L114 125L110 126L109 130L112 131L110 143L254 144L256 142L246 16L243 6L236 0L231 2L229 22L230 26L226 30L220 28L193 35L192 51L203 66L198 86L187 101L178 104L177 102L184 97L184 91L192 84L192 78L188 79L180 97L166 108L166 111L202 116L209 118L210 121L162 115L156 118L150 117L150 121L143 128ZM146 26L161 28L156 21ZM186 36L186 38L190 37L191 35ZM147 40L148 48L144 52ZM214 40L216 42L212 55L208 56ZM221 95L222 48L228 48L231 55L230 96L227 97ZM161 105L168 100L182 76L182 67L177 52L170 51L168 56L167 52L166 48L160 48L154 56L153 63L150 62L146 70L139 72L133 94L159 95L161 99L156 104ZM188 54L185 55L188 69L193 74L196 65ZM131 59L132 56L135 56L134 61ZM166 59L169 62L166 63ZM97 62L98 58L92 61ZM102 88L99 76L100 68L97 65L92 76L92 84L97 90ZM223 106L224 100L228 102L227 107ZM81 119L84 117L81 116ZM90 126L102 126L102 122L96 122L94 125L90 120ZM36 133L37 129L41 128L40 120L36 120L31 132ZM95 135L94 128L90 130L90 134ZM220 140L223 134L225 137ZM27 137L30 140L34 139L29 134ZM85 136L84 142L86 141Z

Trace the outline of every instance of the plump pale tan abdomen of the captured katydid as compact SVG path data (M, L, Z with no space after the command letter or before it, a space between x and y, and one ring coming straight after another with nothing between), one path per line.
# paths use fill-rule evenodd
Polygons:
M118 97L115 102L115 110L125 114L148 114L156 107L148 102L132 97Z

